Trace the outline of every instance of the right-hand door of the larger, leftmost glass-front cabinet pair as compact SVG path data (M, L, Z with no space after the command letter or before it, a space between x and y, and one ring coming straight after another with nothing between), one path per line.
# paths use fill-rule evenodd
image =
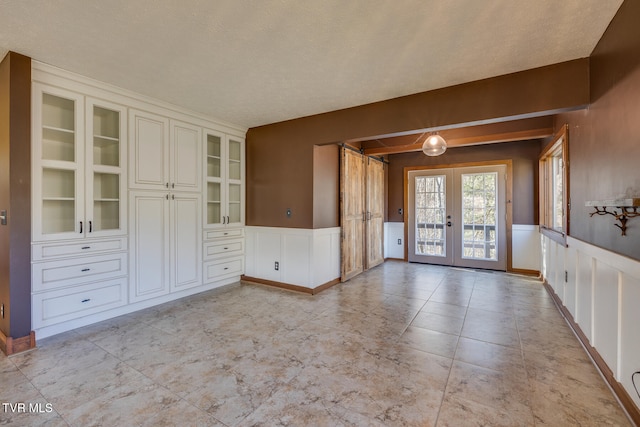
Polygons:
M92 237L126 234L125 108L87 99L86 220Z

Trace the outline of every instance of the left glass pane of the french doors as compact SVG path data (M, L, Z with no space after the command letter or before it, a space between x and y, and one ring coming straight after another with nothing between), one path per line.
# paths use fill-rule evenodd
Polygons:
M444 175L416 177L416 255L446 255Z

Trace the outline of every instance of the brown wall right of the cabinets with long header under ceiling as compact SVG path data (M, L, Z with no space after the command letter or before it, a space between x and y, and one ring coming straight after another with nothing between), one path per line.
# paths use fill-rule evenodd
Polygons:
M247 132L247 224L315 226L315 145L573 110L589 101L588 71L588 59L579 59L251 128ZM285 215L287 208L293 212L290 219Z

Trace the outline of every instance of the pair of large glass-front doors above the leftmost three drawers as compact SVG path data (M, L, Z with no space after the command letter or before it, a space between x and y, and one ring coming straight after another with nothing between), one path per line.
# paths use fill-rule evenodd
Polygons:
M39 84L33 97L33 240L126 234L125 108Z

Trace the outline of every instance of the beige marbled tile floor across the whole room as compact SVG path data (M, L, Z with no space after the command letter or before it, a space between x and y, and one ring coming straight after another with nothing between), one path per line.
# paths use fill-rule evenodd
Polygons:
M0 356L0 401L40 404L3 405L19 426L630 425L539 281L397 261L41 340Z

